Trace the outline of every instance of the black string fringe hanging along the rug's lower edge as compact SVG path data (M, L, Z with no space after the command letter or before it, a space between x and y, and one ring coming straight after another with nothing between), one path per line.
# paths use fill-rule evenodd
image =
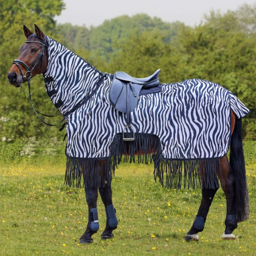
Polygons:
M129 138L132 134L125 133L124 136ZM139 163L154 161L154 178L166 188L180 189L182 184L184 188L193 189L219 187L218 176L222 177L220 158L165 159L159 138L152 134L135 134L134 141L123 141L122 134L117 134L111 145L111 156L107 158L68 157L65 184L80 187L83 176L85 187L110 185L117 165L122 161L135 162L136 155Z

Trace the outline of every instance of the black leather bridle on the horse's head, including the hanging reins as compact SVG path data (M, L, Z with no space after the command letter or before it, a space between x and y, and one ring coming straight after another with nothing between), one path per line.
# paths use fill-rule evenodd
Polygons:
M45 114L42 114L40 113L39 111L37 111L35 108L34 108L34 105L32 103L32 98L31 98L31 90L30 90L30 80L32 78L32 72L34 71L35 67L37 66L38 62L40 61L41 59L41 67L40 67L40 71L38 74L42 73L42 66L44 64L44 57L45 57L45 49L48 49L48 45L45 43L45 42L41 42L41 41L25 41L26 43L30 43L30 42L35 42L37 44L41 44L43 47L41 49L41 51L39 52L39 54L37 55L37 57L35 58L35 60L28 66L25 62L23 62L22 60L19 60L19 59L14 59L13 60L13 63L18 67L19 69L19 72L20 74L22 75L22 79L23 79L23 82L25 82L27 80L28 82L28 88L29 88L29 99L27 98L25 92L24 92L24 89L22 87L22 90L23 90L23 93L26 97L26 99L28 100L28 102L30 103L30 105L32 106L32 109L34 110L36 116L42 121L44 122L45 124L47 125L50 125L50 126L56 126L60 123L62 123L65 118L63 118L59 123L56 123L56 124L50 124L50 123L47 123L45 122L44 120L42 120L42 118L38 115L42 115L42 116L47 116L47 117L55 117L55 116L59 116L61 114L57 114L57 115L45 115ZM22 69L20 68L19 65L22 65L27 71L25 74L23 74L22 72Z

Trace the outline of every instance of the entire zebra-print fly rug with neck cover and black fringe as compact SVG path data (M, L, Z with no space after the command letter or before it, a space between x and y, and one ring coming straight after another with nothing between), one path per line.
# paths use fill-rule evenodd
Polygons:
M82 173L84 186L110 184L117 164L138 155L139 162L154 161L155 179L166 187L200 186L199 165L202 185L219 186L216 170L229 148L230 111L237 118L249 113L236 96L202 79L162 84L161 92L139 97L131 121L135 141L123 142L125 114L109 100L113 75L52 38L47 41L46 89L67 124L67 184L79 187Z

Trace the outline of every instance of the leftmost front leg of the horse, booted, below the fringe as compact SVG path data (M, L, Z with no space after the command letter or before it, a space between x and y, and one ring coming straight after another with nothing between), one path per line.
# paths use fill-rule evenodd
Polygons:
M85 188L86 201L89 208L89 218L86 232L81 236L79 243L88 244L92 243L92 235L99 229L98 212L97 212L97 198L98 188Z

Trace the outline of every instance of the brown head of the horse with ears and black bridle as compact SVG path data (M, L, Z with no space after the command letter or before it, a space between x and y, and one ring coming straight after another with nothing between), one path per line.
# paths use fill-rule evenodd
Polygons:
M33 76L45 73L48 66L48 47L46 36L35 25L35 34L26 26L23 27L27 37L25 44L19 49L19 56L13 61L8 73L8 80L12 86L21 87L22 83Z

